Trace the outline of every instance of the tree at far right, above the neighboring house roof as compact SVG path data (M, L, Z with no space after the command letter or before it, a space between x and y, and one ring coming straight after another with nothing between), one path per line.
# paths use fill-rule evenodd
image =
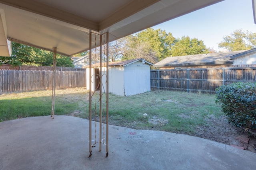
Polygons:
M218 44L219 48L228 51L239 51L256 48L256 33L237 29L230 35L224 36L223 41Z

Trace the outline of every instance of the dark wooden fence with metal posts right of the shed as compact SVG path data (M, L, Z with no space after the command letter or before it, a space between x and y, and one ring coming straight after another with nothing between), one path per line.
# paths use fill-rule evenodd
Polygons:
M215 93L216 88L234 82L256 82L256 67L150 70L152 90Z

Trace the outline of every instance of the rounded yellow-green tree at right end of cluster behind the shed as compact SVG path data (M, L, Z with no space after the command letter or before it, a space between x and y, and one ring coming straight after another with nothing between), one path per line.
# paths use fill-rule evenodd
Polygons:
M202 40L183 36L181 39L176 39L171 52L172 56L183 56L209 53L209 50Z

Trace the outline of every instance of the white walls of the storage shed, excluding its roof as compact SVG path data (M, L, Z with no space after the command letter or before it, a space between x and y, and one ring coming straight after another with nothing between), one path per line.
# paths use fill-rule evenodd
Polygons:
M102 68L102 88L106 91L106 76ZM88 74L89 68L86 69ZM87 89L92 82L92 91L95 90L95 70L92 69L92 81L87 77ZM103 90L103 92L104 92ZM119 96L131 96L150 92L150 65L137 61L125 66L112 66L108 70L108 91Z

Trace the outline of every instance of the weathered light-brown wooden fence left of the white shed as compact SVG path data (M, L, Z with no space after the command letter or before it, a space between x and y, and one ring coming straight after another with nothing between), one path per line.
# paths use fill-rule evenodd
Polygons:
M86 86L85 71L56 71L56 89ZM52 89L50 70L0 70L0 92Z

